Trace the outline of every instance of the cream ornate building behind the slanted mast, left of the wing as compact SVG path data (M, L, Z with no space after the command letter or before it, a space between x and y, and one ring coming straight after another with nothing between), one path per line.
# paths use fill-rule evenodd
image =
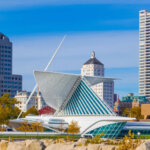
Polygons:
M15 106L21 109L23 112L27 111L32 106L35 106L37 110L40 110L41 108L47 106L40 92L35 92L31 97L29 103L26 105L26 101L29 98L30 94L31 92L27 91L17 92L15 98L19 101L19 103Z

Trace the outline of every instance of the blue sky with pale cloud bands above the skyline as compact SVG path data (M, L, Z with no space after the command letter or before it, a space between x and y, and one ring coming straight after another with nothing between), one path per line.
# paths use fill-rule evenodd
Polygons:
M43 70L64 34L49 71L80 73L91 51L119 78L115 92L138 95L138 13L148 0L1 0L0 32L13 42L13 72L32 90L33 70Z

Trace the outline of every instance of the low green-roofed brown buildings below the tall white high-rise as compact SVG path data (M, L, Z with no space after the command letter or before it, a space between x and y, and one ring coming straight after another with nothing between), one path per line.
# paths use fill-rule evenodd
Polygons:
M150 101L146 96L134 96L133 93L129 93L128 96L124 96L115 102L114 111L121 113L125 108L141 107L142 104L149 103Z

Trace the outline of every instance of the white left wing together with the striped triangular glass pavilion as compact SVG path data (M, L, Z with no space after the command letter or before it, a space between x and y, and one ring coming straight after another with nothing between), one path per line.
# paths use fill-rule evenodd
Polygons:
M34 75L46 104L60 115L115 115L84 76L39 71Z

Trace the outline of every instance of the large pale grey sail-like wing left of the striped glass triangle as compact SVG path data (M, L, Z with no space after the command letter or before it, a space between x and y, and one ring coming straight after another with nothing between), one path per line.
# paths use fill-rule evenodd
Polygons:
M58 110L80 75L34 71L35 79L45 102Z

